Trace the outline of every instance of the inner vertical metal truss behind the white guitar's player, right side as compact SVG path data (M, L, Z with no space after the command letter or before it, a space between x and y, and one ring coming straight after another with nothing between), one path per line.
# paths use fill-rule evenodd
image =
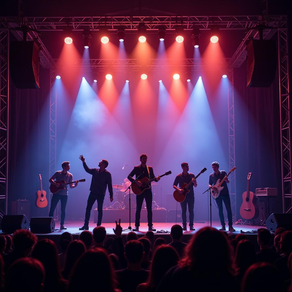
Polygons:
M228 142L229 142L229 169L235 166L235 139L234 139L234 95L233 95L233 68L228 71ZM236 209L236 175L230 175L229 192L232 217L237 219Z

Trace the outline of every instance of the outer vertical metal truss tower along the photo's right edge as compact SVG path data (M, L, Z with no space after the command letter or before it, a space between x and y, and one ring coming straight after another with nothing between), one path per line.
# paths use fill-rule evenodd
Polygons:
M292 211L291 128L287 29L278 29L283 213Z

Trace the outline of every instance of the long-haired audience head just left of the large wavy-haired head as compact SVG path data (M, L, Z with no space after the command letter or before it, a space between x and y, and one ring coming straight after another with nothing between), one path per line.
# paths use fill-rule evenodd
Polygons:
M159 246L153 254L147 286L155 291L164 274L178 264L178 253L169 245Z

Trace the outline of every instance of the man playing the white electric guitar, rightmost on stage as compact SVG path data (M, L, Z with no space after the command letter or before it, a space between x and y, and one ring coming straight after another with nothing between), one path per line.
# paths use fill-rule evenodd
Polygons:
M226 171L225 170L219 170L219 163L217 161L212 162L211 164L213 173L209 176L209 187L212 185L215 185L217 183L217 180L220 179L220 181L225 178ZM229 190L227 187L227 183L229 183L229 179L226 178L221 187L224 187L223 190L221 190L219 197L217 197L216 203L218 206L218 213L219 218L222 227L219 230L226 230L225 228L225 220L224 220L224 214L223 214L223 202L227 211L227 218L228 218L228 231L235 231L235 229L232 227L232 211L231 211L231 202L230 202L230 195ZM213 187L215 190L217 190L216 187Z

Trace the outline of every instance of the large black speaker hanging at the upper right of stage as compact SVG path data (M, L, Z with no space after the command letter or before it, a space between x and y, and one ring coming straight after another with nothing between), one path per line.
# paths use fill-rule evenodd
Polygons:
M274 40L250 40L247 49L247 87L269 87L277 69Z

